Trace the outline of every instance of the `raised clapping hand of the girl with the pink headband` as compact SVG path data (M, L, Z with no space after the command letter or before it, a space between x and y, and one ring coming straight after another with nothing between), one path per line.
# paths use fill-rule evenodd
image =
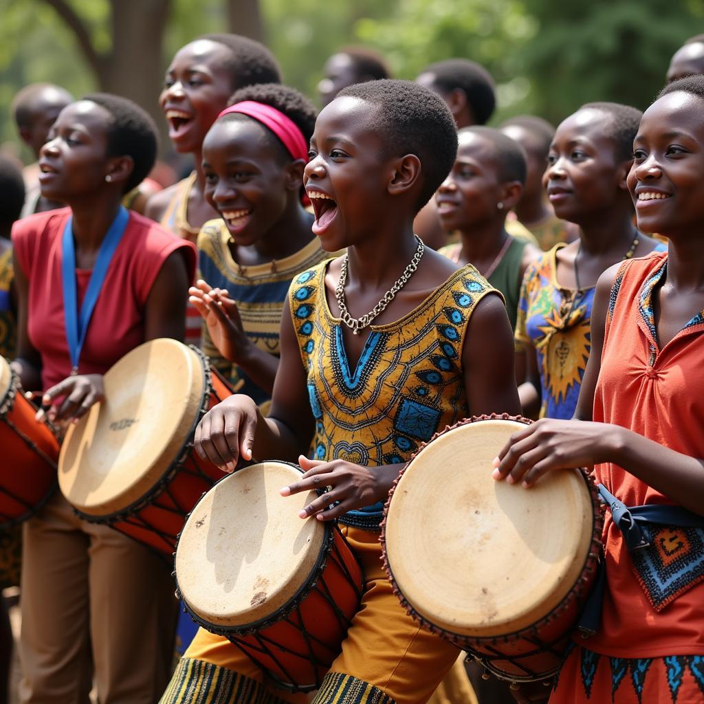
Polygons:
M189 302L206 321L210 339L220 354L230 362L239 361L251 341L242 327L237 303L225 289L213 289L203 279L198 279L188 293Z

